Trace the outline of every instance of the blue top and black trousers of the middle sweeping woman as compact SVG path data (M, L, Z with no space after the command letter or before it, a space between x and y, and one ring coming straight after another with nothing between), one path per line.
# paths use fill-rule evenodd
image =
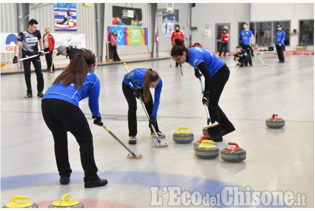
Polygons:
M143 96L143 79L144 79L144 74L146 71L147 69L138 68L138 69L130 71L124 76L123 92L128 102L128 129L129 129L128 135L129 137L132 137L132 136L135 137L137 135L137 119L136 119L137 102L136 102L136 98L133 95L133 89L139 88ZM134 83L132 82L132 80L134 81ZM160 104L162 85L163 85L162 79L160 78L160 81L156 85L156 88L154 91L154 103L153 103L151 92L149 95L150 100L147 103L145 103L143 100L145 108L149 116L155 116L155 117L157 116L157 111ZM151 134L153 134L153 130L151 127L150 127L150 130L151 130ZM157 122L155 125L155 130L157 133L160 132Z

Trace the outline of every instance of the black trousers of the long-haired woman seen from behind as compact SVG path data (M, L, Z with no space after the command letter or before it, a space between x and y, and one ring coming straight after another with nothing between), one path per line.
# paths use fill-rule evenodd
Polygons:
M55 141L55 156L60 176L70 176L67 131L80 146L84 181L96 180L97 167L94 160L93 137L85 115L78 106L59 99L43 99L42 114Z

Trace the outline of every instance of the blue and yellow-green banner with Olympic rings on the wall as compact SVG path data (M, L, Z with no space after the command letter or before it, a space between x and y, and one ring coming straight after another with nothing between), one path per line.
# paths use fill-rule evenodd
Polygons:
M140 27L107 27L107 37L109 38L113 31L116 31L116 45L147 45L148 28Z

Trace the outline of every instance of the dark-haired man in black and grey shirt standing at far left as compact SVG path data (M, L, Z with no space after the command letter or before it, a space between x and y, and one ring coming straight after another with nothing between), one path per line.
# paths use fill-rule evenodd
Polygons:
M39 30L37 30L38 22L35 19L31 19L28 22L28 28L25 31L19 33L16 46L14 48L14 58L13 63L17 63L17 55L19 53L19 48L22 46L22 58L30 57L39 54L39 56L44 56L44 44L42 40L42 35ZM38 43L41 51L38 51ZM37 96L43 97L44 89L44 77L42 73L42 63L40 57L34 57L32 59L23 60L24 66L24 76L27 86L27 94L25 98L33 97L32 94L32 84L31 84L31 63L35 68L37 77Z

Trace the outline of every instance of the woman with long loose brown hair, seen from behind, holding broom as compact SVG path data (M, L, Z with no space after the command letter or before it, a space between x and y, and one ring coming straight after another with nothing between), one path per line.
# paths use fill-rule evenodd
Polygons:
M107 184L106 179L97 175L94 160L93 137L87 119L79 108L79 101L89 95L89 107L94 124L102 126L98 98L100 81L94 74L95 56L79 53L57 76L42 99L42 113L46 125L55 141L55 156L60 183L70 182L72 172L68 159L67 131L80 146L81 164L84 170L84 187L93 188Z

